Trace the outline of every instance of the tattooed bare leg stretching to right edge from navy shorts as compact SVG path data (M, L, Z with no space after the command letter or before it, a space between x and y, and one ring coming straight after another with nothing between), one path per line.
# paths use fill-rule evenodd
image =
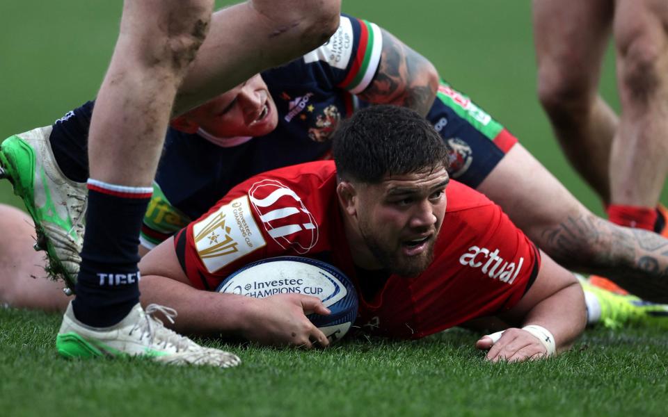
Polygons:
M521 145L477 190L566 268L605 275L639 297L668 302L668 240L596 217Z

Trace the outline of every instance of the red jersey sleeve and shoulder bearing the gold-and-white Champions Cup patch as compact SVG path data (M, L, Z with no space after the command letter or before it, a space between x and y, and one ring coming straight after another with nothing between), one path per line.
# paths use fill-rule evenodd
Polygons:
M324 187L323 172L300 168L317 164L328 167L324 173L331 178ZM215 290L253 261L319 252L326 245L321 225L335 202L334 188L333 163L328 161L267 172L232 188L175 237L177 258L191 284Z

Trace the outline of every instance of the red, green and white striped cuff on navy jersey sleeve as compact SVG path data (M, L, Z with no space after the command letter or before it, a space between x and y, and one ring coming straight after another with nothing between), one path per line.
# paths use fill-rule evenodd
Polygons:
M339 84L353 94L363 92L376 74L383 50L381 29L366 20L360 20L360 44L353 65L346 78Z

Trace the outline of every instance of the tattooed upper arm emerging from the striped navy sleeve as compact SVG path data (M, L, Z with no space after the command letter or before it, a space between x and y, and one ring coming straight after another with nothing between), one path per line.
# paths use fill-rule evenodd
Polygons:
M427 115L438 89L436 68L391 33L382 31L381 62L372 83L360 93L360 99L374 104L396 104Z

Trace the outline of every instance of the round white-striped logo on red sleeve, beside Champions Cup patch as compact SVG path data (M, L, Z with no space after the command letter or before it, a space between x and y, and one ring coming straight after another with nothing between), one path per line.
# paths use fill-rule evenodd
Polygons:
M305 254L318 242L318 224L299 195L279 181L264 179L248 190L264 229L283 249Z

